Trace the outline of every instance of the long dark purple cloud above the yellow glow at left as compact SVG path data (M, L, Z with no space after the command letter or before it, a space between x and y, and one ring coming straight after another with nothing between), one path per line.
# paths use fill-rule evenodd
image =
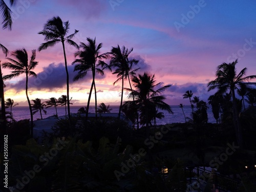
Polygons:
M90 82L92 79L92 74L89 71L86 76L78 81L74 82L73 78L77 74L74 72L74 66L68 66L69 71L69 83L70 85L74 85L75 83L82 83L82 82ZM97 75L97 79L103 79L104 76ZM58 63L55 65L51 63L48 67L43 68L43 71L37 74L37 78L29 77L29 89L30 90L54 90L58 88L63 88L66 86L66 70L63 63ZM7 89L15 89L17 92L22 91L25 89L26 86L26 79L23 78L22 80L18 81L15 84L6 83Z

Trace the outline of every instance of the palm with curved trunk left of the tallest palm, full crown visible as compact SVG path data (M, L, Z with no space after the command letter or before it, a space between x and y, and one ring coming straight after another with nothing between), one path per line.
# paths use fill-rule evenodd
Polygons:
M33 114L32 114L31 103L28 96L28 77L29 76L36 77L35 72L32 71L38 64L38 62L35 61L36 51L32 50L32 55L30 57L30 60L28 60L28 53L25 48L17 49L16 51L12 52L11 56L15 57L16 60L12 58L7 58L9 62L3 63L3 68L8 68L13 71L11 72L11 74L5 75L3 79L11 79L21 74L26 74L26 96L29 104L30 117L31 117L30 134L33 135Z

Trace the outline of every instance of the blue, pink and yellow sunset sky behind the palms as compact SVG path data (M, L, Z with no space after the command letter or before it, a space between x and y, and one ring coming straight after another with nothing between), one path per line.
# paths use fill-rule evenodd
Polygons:
M7 1L6 1L7 2ZM59 16L70 23L69 34L79 30L72 39L87 43L87 37L102 43L101 53L112 47L133 48L131 58L139 60L138 74L155 74L161 86L172 85L163 94L168 104L188 104L183 99L187 90L207 101L214 92L207 83L214 80L217 67L238 59L237 70L247 68L246 75L256 74L256 2L250 0L18 0L12 7L12 30L0 30L0 43L10 53L25 48L31 56L37 50L37 78L29 78L30 99L47 100L66 95L66 72L61 44L38 51L45 42L38 32L48 19ZM91 86L90 73L73 82L74 47L66 46L70 73L70 97L77 105L85 105ZM7 57L13 58L11 54ZM6 62L0 53L1 63ZM10 70L2 69L4 75ZM96 76L97 102L119 104L121 81L105 71ZM25 76L5 81L5 98L27 105ZM128 88L129 83L125 82ZM129 93L124 93L124 100ZM94 98L91 99L94 102Z

